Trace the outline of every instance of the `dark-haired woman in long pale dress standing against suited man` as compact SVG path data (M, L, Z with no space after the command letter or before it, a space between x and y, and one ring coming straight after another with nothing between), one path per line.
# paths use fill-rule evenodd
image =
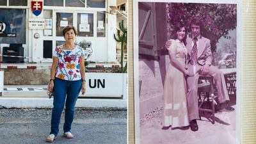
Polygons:
M189 125L187 108L186 76L193 76L186 67L186 29L184 24L177 23L172 36L172 45L167 47L170 64L164 81L164 125L184 127Z

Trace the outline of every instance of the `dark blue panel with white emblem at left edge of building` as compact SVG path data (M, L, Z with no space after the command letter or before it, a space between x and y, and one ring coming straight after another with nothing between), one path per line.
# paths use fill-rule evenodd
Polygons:
M26 44L26 9L0 8L0 44Z

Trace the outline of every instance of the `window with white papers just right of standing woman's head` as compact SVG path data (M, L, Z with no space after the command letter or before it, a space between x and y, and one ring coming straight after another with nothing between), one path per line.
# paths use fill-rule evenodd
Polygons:
M93 36L93 13L77 13L78 36Z

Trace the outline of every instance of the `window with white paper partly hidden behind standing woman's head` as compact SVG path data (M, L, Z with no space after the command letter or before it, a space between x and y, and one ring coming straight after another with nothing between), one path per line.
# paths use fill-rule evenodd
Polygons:
M73 26L73 13L56 13L56 36L63 36L62 29Z

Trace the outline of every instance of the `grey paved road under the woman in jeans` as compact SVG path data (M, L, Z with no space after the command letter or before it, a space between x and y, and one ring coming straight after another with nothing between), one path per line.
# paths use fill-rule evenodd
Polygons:
M63 113L64 114L64 113ZM72 133L67 140L60 132L53 143L126 144L127 111L124 109L76 109ZM40 144L50 132L51 109L0 108L0 144Z

